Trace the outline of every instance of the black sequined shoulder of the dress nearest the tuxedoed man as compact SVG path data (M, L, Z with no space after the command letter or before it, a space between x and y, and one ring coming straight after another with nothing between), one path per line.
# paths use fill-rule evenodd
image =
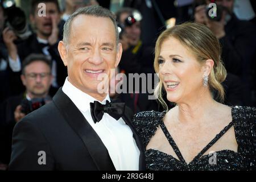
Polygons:
M133 124L138 134L143 140L143 144L146 146L152 135L154 135L157 127L162 121L166 111L142 111L137 113L133 117Z

